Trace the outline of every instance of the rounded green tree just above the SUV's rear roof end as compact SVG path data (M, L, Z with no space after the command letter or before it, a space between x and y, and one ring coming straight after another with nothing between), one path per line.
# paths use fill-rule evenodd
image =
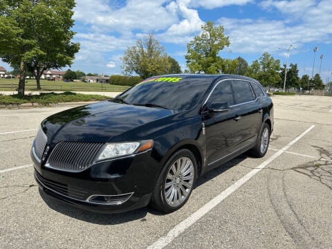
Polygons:
M263 86L270 88L271 86L276 86L280 81L279 71L279 59L275 59L270 54L264 53L258 60L252 62L248 67L246 75L258 80Z

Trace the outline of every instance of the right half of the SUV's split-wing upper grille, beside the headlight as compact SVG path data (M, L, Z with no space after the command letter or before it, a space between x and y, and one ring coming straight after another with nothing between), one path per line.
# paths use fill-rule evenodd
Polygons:
M46 165L55 169L80 172L93 164L103 145L92 142L59 142Z

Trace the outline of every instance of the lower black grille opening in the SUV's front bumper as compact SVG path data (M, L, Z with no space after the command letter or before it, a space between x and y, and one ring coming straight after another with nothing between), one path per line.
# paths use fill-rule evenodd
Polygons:
M68 188L68 185L66 184L51 181L39 174L37 170L35 170L35 178L42 186L46 187L48 190L52 190L54 192L57 192L58 194L62 194L64 196L68 196L74 199L82 201L86 200L86 191L74 190L72 188Z

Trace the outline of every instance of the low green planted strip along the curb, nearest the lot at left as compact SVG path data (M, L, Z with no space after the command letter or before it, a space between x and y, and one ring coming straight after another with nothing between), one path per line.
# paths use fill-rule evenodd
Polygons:
M42 105L57 104L62 102L86 102L106 100L107 97L95 94L72 93L66 91L64 93L41 93L39 95L25 95L21 97L15 95L0 95L0 105L17 105L24 103L37 103Z

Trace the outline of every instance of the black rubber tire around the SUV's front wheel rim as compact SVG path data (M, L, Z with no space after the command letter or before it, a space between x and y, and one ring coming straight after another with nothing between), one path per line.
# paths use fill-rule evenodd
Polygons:
M194 179L192 182L192 187L190 189L190 192L187 193L186 199L178 206L173 207L169 205L166 201L165 197L165 183L167 181L167 174L169 173L170 168L172 165L179 159L187 157L192 160L192 165L194 166ZM196 182L196 176L197 176L197 163L196 158L194 154L192 154L192 151L188 149L181 149L180 151L177 151L173 156L167 160L165 163L165 166L163 167L162 171L160 172L160 175L158 177L158 181L156 183L156 187L154 188L154 192L151 197L151 206L155 208L156 210L159 210L160 212L170 213L174 212L176 210L179 210L190 197L190 194L192 194L192 190L194 188L195 182ZM183 193L183 192L181 192Z

